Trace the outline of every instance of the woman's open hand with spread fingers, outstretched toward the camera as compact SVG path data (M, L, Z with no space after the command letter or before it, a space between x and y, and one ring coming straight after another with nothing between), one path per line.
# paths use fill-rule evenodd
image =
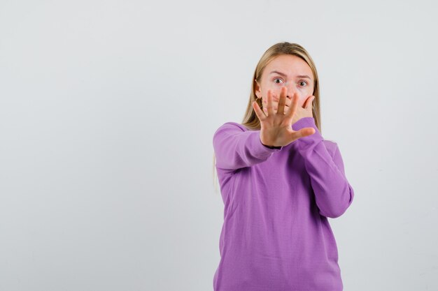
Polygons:
M300 137L313 135L313 133L315 133L315 129L311 127L296 131L292 129L292 124L296 121L294 117L297 113L298 95L294 94L292 96L291 106L289 106L289 110L285 112L287 91L287 87L281 88L278 110L274 112L272 92L268 90L267 115L264 114L255 101L253 102L255 114L260 120L260 141L268 147L285 147Z

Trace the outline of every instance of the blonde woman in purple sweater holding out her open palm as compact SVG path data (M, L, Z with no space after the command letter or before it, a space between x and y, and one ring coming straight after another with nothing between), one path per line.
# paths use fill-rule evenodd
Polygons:
M320 130L318 74L304 47L277 43L255 68L242 124L213 135L224 223L215 291L341 291L327 218L353 188Z

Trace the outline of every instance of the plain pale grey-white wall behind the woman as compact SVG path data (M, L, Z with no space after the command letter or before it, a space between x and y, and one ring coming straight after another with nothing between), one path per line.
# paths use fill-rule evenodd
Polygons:
M0 290L213 290L213 133L299 43L346 291L438 290L436 1L0 0Z

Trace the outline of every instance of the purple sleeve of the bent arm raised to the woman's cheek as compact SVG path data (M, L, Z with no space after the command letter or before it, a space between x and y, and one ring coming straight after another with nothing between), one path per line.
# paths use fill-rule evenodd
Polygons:
M316 132L299 138L297 150L304 157L320 214L337 218L344 214L354 197L353 188L346 179L341 152L336 144L333 157L330 155L313 117L304 117L292 124L293 130L305 127L313 127Z

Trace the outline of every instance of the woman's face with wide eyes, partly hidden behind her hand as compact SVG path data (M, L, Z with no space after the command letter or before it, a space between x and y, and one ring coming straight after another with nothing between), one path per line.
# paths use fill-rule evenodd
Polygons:
M303 107L309 96L313 95L313 73L310 66L292 54L281 54L272 59L264 68L260 83L255 81L255 95L262 97L264 113L267 113L267 91L271 89L276 111L281 87L288 88L286 105L290 105L293 94L298 94L298 105Z

